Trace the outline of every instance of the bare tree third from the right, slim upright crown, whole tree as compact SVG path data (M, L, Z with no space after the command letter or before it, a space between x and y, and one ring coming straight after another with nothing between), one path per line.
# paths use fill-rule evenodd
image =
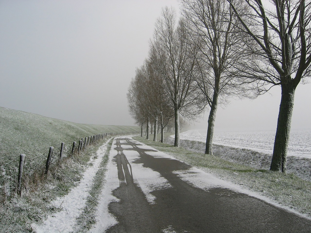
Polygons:
M201 93L188 76L192 73L194 59L189 56L186 31L184 21L179 20L176 26L174 10L166 7L156 22L151 42L151 49L156 56L154 61L164 79L163 87L174 108L174 146L179 146L179 114L193 117L204 108L202 98L199 98Z

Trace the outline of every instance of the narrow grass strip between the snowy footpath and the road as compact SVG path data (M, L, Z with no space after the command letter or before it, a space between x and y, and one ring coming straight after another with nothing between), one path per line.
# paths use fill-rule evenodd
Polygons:
M104 157L100 163L100 167L95 174L89 196L86 200L86 206L82 213L77 218L77 226L75 233L88 232L91 227L96 223L96 210L99 204L100 194L104 185L105 173L107 171L107 163L109 160L109 152L113 140L111 139L107 145Z

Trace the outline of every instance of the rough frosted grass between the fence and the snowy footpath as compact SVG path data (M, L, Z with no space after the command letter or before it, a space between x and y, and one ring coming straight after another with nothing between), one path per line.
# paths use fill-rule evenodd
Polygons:
M62 209L50 202L57 196L64 196L76 186L89 164L90 158L104 140L95 142L79 156L65 158L60 166L54 167L46 178L29 183L21 198L13 197L0 205L0 232L33 232L31 223L41 223L47 215Z

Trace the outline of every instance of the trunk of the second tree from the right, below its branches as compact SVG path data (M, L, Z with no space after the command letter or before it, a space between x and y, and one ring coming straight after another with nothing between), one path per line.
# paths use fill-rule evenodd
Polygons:
M218 93L216 90L214 90L210 115L208 116L207 136L205 145L206 154L213 154L213 136L214 136L214 126L215 126L217 106L218 106Z

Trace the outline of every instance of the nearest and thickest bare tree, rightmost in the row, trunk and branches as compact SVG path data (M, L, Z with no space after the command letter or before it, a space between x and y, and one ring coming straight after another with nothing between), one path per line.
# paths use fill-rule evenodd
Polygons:
M281 103L270 170L286 173L287 146L295 89L310 75L311 62L311 2L305 0L272 0L264 5L261 0L245 0L250 14L239 10L233 0L228 0L247 33L259 46L254 51L265 62L258 67L258 80L270 86L281 86ZM273 7L271 7L271 5ZM245 23L244 18L252 21ZM253 50L253 48L249 48ZM260 69L261 68L261 69Z

